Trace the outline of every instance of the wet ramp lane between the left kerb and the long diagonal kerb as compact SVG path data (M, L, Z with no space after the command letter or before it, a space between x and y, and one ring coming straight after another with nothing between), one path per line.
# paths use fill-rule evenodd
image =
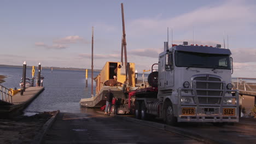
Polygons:
M108 117L88 109L60 113L44 143L202 143L169 131Z

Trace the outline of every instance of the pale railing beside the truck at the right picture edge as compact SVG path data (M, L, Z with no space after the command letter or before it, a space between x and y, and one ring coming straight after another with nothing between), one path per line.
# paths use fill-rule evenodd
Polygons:
M256 78L237 77L232 83L240 91L256 91Z

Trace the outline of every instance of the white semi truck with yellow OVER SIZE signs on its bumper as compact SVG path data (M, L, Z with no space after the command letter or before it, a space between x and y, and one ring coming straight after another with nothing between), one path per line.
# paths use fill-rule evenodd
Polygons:
M129 93L130 112L138 119L159 117L176 122L238 122L238 91L232 90L229 49L202 45L172 45L159 54L151 87ZM156 64L154 64L156 65ZM152 69L153 66L152 65Z

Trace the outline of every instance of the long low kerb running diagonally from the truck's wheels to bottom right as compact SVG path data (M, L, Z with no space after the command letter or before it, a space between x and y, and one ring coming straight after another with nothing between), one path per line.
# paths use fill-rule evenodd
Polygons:
M156 123L156 122L149 122L149 121L142 121L139 119L123 117L123 116L118 116L118 115L115 115L114 117L121 118L126 121L130 121L130 122L147 125L149 127L158 128L161 130L171 131L172 133L190 137L191 139L195 139L195 140L205 142L205 143L230 143L228 141L216 140L216 139L214 139L214 137L195 133L195 131L190 131L190 130L186 130L186 129L182 129L182 128L178 128L178 127L172 127L171 125L166 125L166 124L161 124L161 123Z

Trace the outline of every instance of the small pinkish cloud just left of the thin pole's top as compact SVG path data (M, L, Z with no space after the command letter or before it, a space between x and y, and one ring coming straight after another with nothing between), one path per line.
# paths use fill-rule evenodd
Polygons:
M79 37L78 35L70 35L65 38L53 40L53 43L56 43L56 44L75 44L75 43L89 44L90 42L86 41L82 37Z

